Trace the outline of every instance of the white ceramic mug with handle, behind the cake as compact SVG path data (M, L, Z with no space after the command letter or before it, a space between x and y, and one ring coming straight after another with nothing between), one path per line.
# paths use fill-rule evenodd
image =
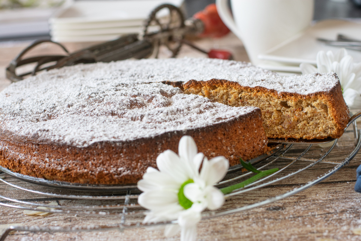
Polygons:
M290 39L308 27L314 0L216 0L217 11L227 27L240 38L253 64L259 54Z

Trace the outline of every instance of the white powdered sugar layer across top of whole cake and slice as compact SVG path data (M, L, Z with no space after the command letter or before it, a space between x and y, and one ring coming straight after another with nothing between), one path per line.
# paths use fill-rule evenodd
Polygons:
M218 78L308 93L327 89L336 79L330 77L284 78L249 63L219 59L79 64L10 85L0 94L0 125L3 132L27 139L79 147L99 141L129 141L202 128L255 109L185 95L179 88L159 83L162 81Z

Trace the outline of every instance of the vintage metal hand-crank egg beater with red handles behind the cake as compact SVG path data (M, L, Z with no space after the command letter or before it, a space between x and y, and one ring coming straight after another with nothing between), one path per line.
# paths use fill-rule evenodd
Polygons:
M168 16L159 16L160 12L168 10ZM207 53L209 57L219 59L231 59L227 51L202 50L185 39L186 35L202 37L221 37L229 33L218 16L216 5L211 4L203 11L196 13L192 18L184 20L182 11L171 4L162 4L155 8L148 19L144 22L142 34L129 34L120 38L101 43L74 53L61 44L51 40L38 40L25 48L6 68L6 77L12 82L22 80L29 74L35 75L42 70L49 70L79 63L110 62L129 58L158 57L160 46L165 46L169 57L175 57L182 47L187 44L201 52ZM44 42L57 44L65 51L64 55L44 55L23 59L23 56L35 46ZM31 72L17 74L18 67L27 64L36 64Z

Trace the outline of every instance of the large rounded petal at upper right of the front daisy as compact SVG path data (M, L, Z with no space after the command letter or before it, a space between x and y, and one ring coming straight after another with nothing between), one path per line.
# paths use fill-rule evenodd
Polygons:
M206 160L203 162L205 169L202 167L200 176L206 185L213 185L221 181L228 171L228 160L224 156L217 156L210 159L207 165L205 162Z

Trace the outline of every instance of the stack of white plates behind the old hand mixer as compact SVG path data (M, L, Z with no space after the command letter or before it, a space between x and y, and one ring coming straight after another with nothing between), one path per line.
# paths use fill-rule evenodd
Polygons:
M180 7L183 0L78 0L50 18L52 40L109 41L140 33L151 11L164 3Z

